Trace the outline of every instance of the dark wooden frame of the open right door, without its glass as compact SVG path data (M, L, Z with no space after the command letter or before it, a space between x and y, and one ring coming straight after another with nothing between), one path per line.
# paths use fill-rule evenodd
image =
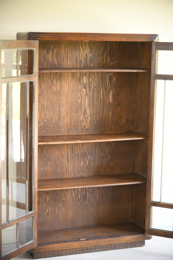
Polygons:
M152 178L153 178L153 152L154 152L154 122L156 107L156 80L173 80L173 75L157 74L157 51L173 50L173 43L152 42L152 63L150 83L150 116L149 116L149 139L148 139L148 167L147 167L147 188L146 188L146 230L148 235L173 238L172 231L157 230L151 228L151 207L163 207L173 209L172 204L152 201Z

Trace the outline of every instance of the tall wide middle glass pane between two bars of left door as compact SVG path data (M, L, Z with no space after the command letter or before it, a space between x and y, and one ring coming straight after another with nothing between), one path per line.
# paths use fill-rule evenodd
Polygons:
M27 82L9 84L9 220L26 213Z

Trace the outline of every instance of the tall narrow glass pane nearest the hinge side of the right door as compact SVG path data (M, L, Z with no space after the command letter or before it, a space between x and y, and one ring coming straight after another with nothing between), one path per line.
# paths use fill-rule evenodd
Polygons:
M156 110L154 129L153 192L152 200L160 202L162 175L162 140L165 81L156 82Z

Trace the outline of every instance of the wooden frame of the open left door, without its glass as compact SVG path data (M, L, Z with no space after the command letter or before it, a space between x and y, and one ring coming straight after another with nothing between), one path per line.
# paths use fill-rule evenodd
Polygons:
M9 222L5 222L0 225L0 255L2 259L8 260L11 259L17 255L20 255L23 252L26 252L30 249L33 249L37 246L37 157L38 157L38 41L32 41L32 40L0 40L0 72L1 72L1 50L2 49L29 49L33 50L34 53L34 62L30 63L30 59L28 59L28 72L31 71L31 67L33 67L33 74L31 75L24 75L24 76L11 76L2 78L0 76L0 86L2 86L2 83L8 83L8 82L27 82L27 86L29 86L29 82L31 83L31 91L29 93L30 95L30 112L32 112L31 115L31 125L32 130L30 132L32 136L31 148L32 151L29 151L29 157L30 161L29 164L31 165L32 169L30 169L30 172L32 172L32 185L30 190L32 190L33 193L33 203L32 203L32 211L26 213L24 216L19 218L14 218ZM17 66L19 70L19 65ZM17 71L18 71L17 70ZM17 73L18 74L18 73ZM0 88L0 102L2 100L2 87ZM32 103L32 105L31 105ZM1 109L1 108L0 108ZM1 115L1 113L0 113ZM1 117L1 116L0 116ZM30 117L30 115L29 115ZM1 124L0 124L0 133L1 133ZM29 140L28 140L29 141ZM0 145L1 145L1 138L0 138ZM1 149L0 149L0 158L1 158ZM0 169L2 170L1 165L1 159L0 159ZM0 203L2 203L2 197L1 197L1 178L0 178ZM30 194L29 194L30 197ZM30 202L29 202L30 203ZM27 242L24 246L19 247L18 249L5 254L2 256L2 230L5 228L12 226L14 224L20 223L21 221L27 220L29 218L33 218L33 240L30 242ZM0 207L0 223L2 223L2 207Z

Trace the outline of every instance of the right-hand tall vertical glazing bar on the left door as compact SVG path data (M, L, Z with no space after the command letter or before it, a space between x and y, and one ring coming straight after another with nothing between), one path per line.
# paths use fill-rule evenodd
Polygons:
M29 81L27 81L27 165L26 165L26 214L28 214L28 179L29 179Z

